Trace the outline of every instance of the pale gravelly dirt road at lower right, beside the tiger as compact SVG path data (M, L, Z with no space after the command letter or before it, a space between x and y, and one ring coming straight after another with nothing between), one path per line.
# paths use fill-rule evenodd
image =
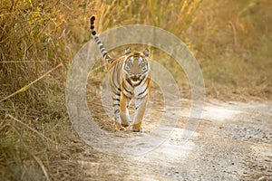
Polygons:
M151 99L151 105L156 100ZM85 180L272 180L272 102L205 103L198 128L184 141L189 100L182 100L182 115L160 147L139 157L117 157L95 152L95 159L78 163ZM151 134L160 106L149 111L144 134ZM155 121L156 122L156 121ZM141 137L130 131L112 131L122 138ZM155 137L160 138L160 135ZM142 143L146 144L146 143ZM87 151L88 149L86 149Z

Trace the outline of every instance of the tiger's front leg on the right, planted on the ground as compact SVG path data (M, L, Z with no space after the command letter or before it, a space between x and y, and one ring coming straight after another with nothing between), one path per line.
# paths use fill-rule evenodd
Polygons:
M141 122L146 110L148 99L149 99L149 95L147 94L143 98L138 98L135 100L136 112L134 115L132 128L131 128L131 131L133 132L142 132Z

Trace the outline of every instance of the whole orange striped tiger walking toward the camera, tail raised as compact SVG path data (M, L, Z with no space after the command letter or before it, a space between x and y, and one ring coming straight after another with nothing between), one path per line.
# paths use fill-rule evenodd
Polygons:
M142 119L151 89L149 50L131 52L130 48L126 48L124 55L112 58L96 34L95 16L92 16L90 20L92 37L102 52L103 59L108 64L115 129L121 130L130 127L133 132L142 132ZM132 121L128 110L131 99L135 100L136 109Z

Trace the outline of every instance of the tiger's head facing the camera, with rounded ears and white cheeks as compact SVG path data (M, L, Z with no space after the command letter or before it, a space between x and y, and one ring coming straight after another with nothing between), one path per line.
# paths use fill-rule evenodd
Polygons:
M131 52L128 48L125 53L123 70L127 74L127 79L137 84L150 72L149 51L146 49L143 52Z

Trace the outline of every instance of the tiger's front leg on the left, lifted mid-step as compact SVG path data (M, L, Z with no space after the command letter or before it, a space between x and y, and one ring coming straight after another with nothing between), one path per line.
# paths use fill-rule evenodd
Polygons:
M130 114L129 114L129 104L131 102L131 99L125 96L121 92L120 97L120 117L121 117L121 126L122 127L128 127L131 124Z

